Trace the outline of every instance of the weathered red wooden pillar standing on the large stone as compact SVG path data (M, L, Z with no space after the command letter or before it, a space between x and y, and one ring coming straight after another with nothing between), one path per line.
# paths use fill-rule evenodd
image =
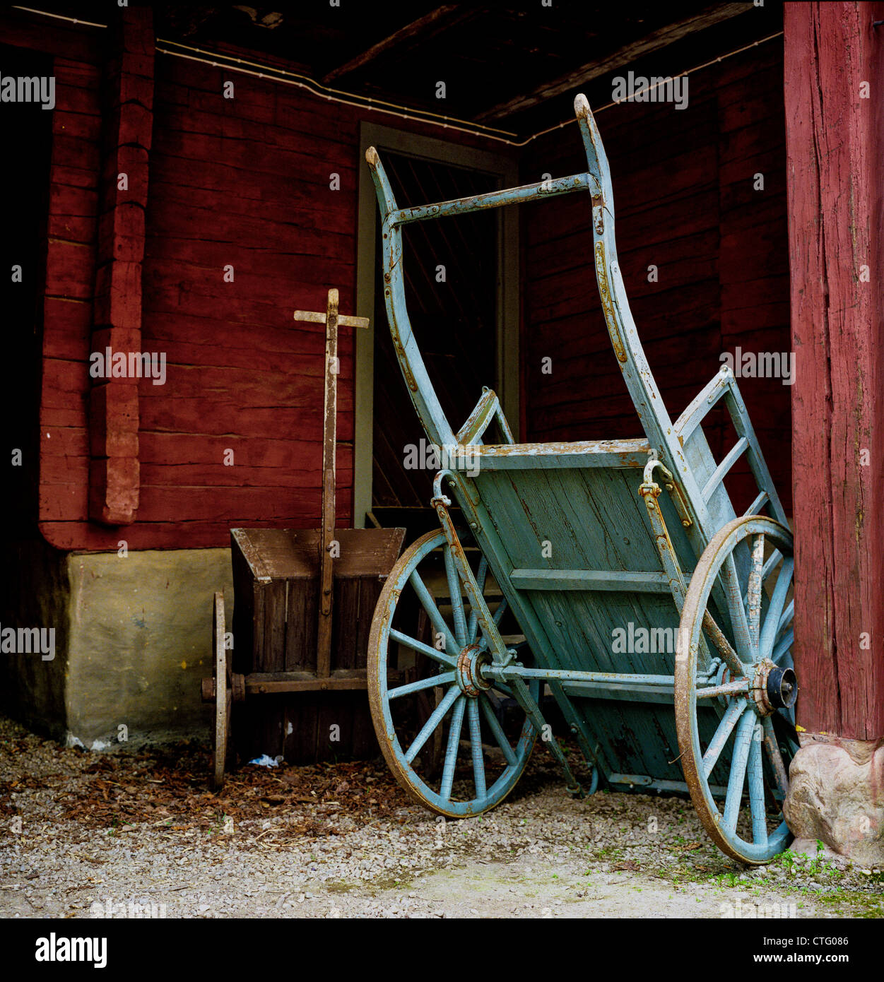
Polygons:
M799 723L884 735L884 3L784 7Z

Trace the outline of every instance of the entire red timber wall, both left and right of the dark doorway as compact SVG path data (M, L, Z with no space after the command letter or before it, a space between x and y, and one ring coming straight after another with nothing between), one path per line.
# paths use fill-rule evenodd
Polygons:
M319 518L322 332L295 325L330 286L353 310L359 118L294 86L157 54L142 267L143 351L167 380L138 383L137 520L88 521L88 355L99 217L102 31L4 15L8 43L55 55L44 303L40 527L66 549L223 546L237 524ZM690 107L599 115L636 322L676 415L738 344L788 351L782 59L769 42L691 77ZM235 98L225 99L232 81ZM371 114L439 136L435 128ZM486 141L447 136L474 145ZM525 181L583 167L576 128L530 144ZM764 191L754 191L755 173ZM340 175L340 190L329 187ZM581 204L582 202L580 202ZM575 206L575 205L578 206ZM541 210L542 209L542 210ZM635 435L598 312L587 213L574 198L525 211L524 432ZM646 267L659 267L648 283ZM224 282L224 267L234 282ZM552 375L540 371L545 355ZM343 332L338 504L352 509L353 343ZM587 383L587 378L589 382ZM780 493L789 492L789 389L746 379ZM711 435L719 453L721 432ZM233 451L234 465L224 464ZM787 506L788 507L788 506Z

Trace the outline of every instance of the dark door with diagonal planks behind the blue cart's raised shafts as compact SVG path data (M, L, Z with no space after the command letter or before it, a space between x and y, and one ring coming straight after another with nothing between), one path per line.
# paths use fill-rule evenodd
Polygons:
M382 159L401 207L497 187L491 175L450 164L389 151L382 152ZM415 222L403 230L406 300L414 335L455 430L466 421L483 385L499 388L497 232L495 214L488 211ZM416 448L417 460L426 460L421 451L426 437L390 339L379 226L377 236L372 508L427 508L435 468L406 466L410 447Z

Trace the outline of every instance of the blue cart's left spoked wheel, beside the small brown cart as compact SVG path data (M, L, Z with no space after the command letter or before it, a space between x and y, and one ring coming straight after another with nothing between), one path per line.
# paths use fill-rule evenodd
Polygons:
M434 553L439 547L441 551ZM441 573L440 559L451 598L448 604L437 603L426 586L434 569ZM487 598L487 564L479 557L471 563ZM408 601L415 596L429 618L438 649L406 633L408 624L397 617L400 606L408 610L412 607ZM496 610L491 606L494 620L500 623L506 601ZM388 669L401 669L398 662L414 652L426 656L430 672L415 682L389 688ZM378 742L397 781L417 801L452 818L479 814L503 800L519 780L534 745L534 729L521 709L521 730L506 732L499 707L510 692L481 677L480 666L490 660L469 600L462 595L445 534L428 532L403 553L381 591L368 641L368 699ZM534 699L538 689L533 682ZM415 733L411 721L417 714L409 703L430 692L439 694L438 702ZM421 756L437 731L444 735L444 763L441 775L433 776L432 761Z

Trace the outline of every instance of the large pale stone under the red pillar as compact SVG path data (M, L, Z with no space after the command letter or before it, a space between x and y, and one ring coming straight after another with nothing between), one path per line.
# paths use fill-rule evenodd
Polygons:
M884 866L884 738L801 734L783 808L793 849L818 842L861 866Z

